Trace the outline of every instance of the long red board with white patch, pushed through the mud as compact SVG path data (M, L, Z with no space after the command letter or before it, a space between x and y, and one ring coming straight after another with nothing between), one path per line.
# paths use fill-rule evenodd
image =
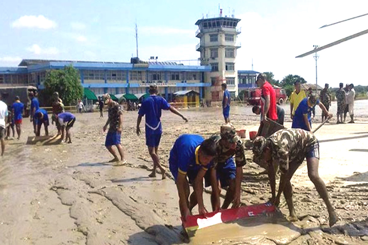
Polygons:
M262 203L241 208L224 209L219 212L206 213L205 215L191 215L183 222L183 228L188 232L195 231L215 224L226 223L237 219L273 213L276 207L271 203Z

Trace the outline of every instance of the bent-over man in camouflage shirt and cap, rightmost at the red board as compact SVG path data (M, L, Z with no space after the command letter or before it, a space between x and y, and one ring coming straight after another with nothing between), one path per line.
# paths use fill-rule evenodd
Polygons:
M253 153L254 162L263 161L268 163L268 175L272 192L271 202L278 206L280 195L284 192L290 212L290 221L298 220L293 205L293 189L290 179L306 158L309 179L313 182L318 194L327 206L329 224L333 226L336 223L337 215L329 201L326 185L318 175L319 143L314 134L302 129L282 129L268 138L255 138ZM279 165L281 172L277 196L275 196L276 180L272 164Z

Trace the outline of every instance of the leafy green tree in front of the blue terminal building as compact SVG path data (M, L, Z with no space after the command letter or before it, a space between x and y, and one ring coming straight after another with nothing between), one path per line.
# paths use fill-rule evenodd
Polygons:
M45 89L42 90L45 102L51 104L52 94L57 91L64 105L75 104L83 96L83 87L79 79L79 72L72 65L60 70L47 71Z

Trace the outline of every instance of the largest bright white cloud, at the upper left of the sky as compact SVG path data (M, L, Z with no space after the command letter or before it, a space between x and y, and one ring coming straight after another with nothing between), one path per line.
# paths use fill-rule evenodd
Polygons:
M47 19L43 15L24 15L19 19L15 20L12 24L14 28L40 28L40 29L50 29L55 28L56 23L50 19Z

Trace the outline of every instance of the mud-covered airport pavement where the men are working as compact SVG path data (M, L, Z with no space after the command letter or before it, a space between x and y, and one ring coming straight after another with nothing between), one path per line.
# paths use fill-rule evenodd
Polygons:
M65 145L26 145L26 138L32 132L31 123L24 119L21 140L7 141L5 156L0 160L0 244L185 242L180 235L177 191L168 170L169 152L180 134L210 136L219 130L223 118L220 108L182 109L181 112L190 120L188 123L163 112L164 133L159 154L169 177L163 181L159 175L156 179L147 177L152 161L145 146L144 123L142 135L135 134L136 111L124 112L122 144L128 159L124 166L107 163L111 156L104 147L102 131L106 118L100 119L99 113L78 114L72 128L73 144ZM237 128L257 128L259 118L251 114L250 107L233 107L230 116ZM290 126L289 115L285 117L286 126ZM263 229L257 224L244 235L250 239L216 240L210 236L208 239L216 241L206 240L208 244L367 243L368 118L360 114L357 120L354 125L330 123L316 132L321 141L319 174L328 186L340 218L335 226L328 227L325 205L303 164L292 179L300 218L287 225L291 225L293 232L281 229L277 234L279 239L264 234L267 232L252 237L255 230ZM318 121L313 126L317 124ZM51 125L50 134L54 133L56 130ZM246 153L248 164L244 166L241 200L245 205L265 202L270 197L267 175L251 162L251 151ZM204 199L210 209L209 194L205 193ZM288 214L283 199L280 209L284 215ZM192 244L201 242L191 241Z

